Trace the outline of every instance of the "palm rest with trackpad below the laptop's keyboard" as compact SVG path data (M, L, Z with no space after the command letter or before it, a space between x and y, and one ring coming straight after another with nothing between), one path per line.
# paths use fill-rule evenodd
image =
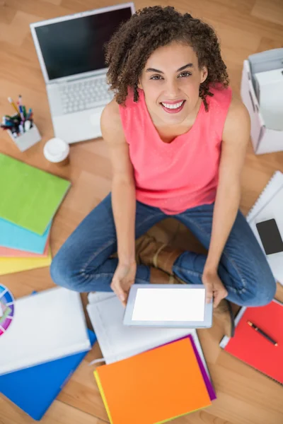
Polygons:
M100 117L103 109L104 106L53 117L54 135L67 143L101 137Z

